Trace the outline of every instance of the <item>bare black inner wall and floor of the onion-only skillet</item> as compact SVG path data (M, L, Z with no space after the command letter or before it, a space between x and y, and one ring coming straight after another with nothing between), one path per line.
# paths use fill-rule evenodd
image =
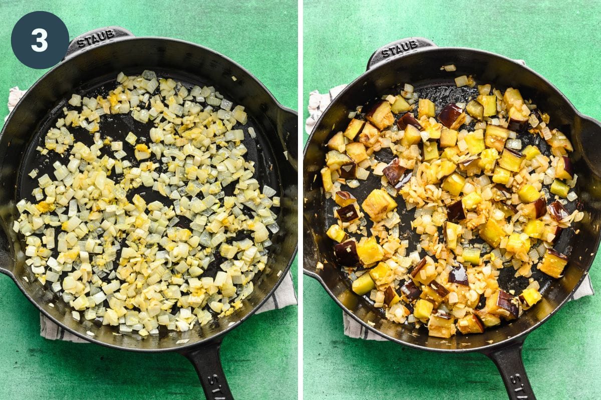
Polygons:
M188 88L194 85L215 86L216 91L224 95L224 98L246 107L248 122L243 128L245 130L243 144L248 149L248 153L245 158L254 161L254 178L260 186L269 185L276 190L276 196L281 196L281 207L274 209L278 214L276 222L280 230L271 237L273 245L269 248L269 262L266 269L255 276L253 293L243 301L242 308L231 315L215 317L213 321L202 327L196 324L194 329L188 332L160 329L159 335L147 336L141 340L137 334L115 335L114 333L118 333L115 327L102 326L98 321L84 320L81 323L75 321L71 317L72 309L69 305L47 287L43 287L32 275L29 267L25 266L25 257L19 239L10 233L16 261L13 275L26 296L42 311L81 336L127 350L173 350L218 336L245 320L284 277L284 272L290 266L296 250L294 236L296 231L293 228L296 227L296 179L294 182L286 179L291 173L296 175L293 172L295 161L293 157L296 152L288 154L290 160L285 154L286 142L296 132L292 130L290 121L282 115L281 107L254 77L210 50L185 42L160 38L118 41L75 56L58 65L38 81L15 110L11 117L13 121L8 121L1 138L2 142L8 143L8 152L2 160L0 170L3 181L2 196L4 196L3 200L9 205L12 204L14 208L14 203L22 197L31 199L31 190L37 187L37 179L27 175L32 169L39 170L38 177L44 173L53 176L52 164L61 159L61 156L54 152L42 156L35 148L40 144L43 147L43 138L48 128L55 124L57 118L63 116L62 109L71 94L79 94L82 97L106 96L108 91L117 85L115 78L120 71L127 75L135 75L141 74L144 70L154 71L159 78L171 78L176 82L182 82ZM233 76L237 79L232 79ZM26 126L19 125L19 122ZM151 127L153 125L150 122L143 124L135 121L129 114L108 115L101 117L100 134L101 137L110 136L113 140L123 141L127 133L132 131L139 138L149 140L148 133ZM254 128L256 139L248 135L249 127ZM242 127L234 127L236 128ZM72 128L70 131L75 136L76 142L81 141L88 146L93 143L92 135L84 129ZM127 152L126 147L124 146L124 151ZM132 157L133 151L128 152L126 158ZM68 157L62 158L61 162L66 164L67 159ZM8 181L11 169L13 170L13 177L10 178L12 182ZM18 174L15 173L16 171ZM4 177L7 177L7 181ZM11 186L11 183L14 186ZM233 186L232 184L225 187L225 193L233 191ZM11 189L13 193L10 193ZM139 187L131 192L132 196L134 193L140 194L147 202L160 200L168 204L165 198L150 188ZM16 210L10 207L3 210L2 217L7 225L11 225L6 221L11 221L15 212ZM220 256L217 256L206 271L208 276L214 276L219 268Z

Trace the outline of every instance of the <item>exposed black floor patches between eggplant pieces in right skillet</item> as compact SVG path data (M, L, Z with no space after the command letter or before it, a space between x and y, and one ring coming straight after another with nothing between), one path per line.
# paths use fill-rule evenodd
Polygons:
M453 83L445 82L437 82L437 83L426 83L424 85L414 85L414 90L416 94L418 94L419 98L428 98L433 101L436 105L436 110L442 110L449 103L467 103L471 98L474 98L478 94L478 89L476 87L469 88L469 86L462 86L461 88L457 88L457 86ZM496 88L496 89L505 89L505 88ZM396 95L399 94L402 90L402 86L391 89L389 94ZM374 99L376 101L376 99ZM367 110L369 107L363 107L363 110ZM545 112L546 110L542 110ZM364 113L361 114L362 119L364 119ZM474 127L475 122L472 122L470 127ZM551 127L553 127L553 121L551 121ZM342 127L346 126L346 122L341 124ZM551 148L549 145L543 140L540 136L534 136L529 133L527 130L517 131L517 139L522 140L522 148L525 148L528 145L537 146L540 151L545 155L551 154ZM376 156L376 160L382 163L389 163L394 158L392 155L392 151L388 148L382 149L379 152L374 153ZM576 172L578 173L578 172ZM373 173L367 178L366 181L359 181L360 185L356 188L350 188L348 186L344 186L341 190L348 191L356 197L359 204L367 197L367 195L374 189L380 188L380 179L379 177L376 179L373 176ZM543 188L547 188L549 190L550 185L543 185ZM401 240L409 240L409 247L407 248L407 255L415 251L417 243L419 243L419 234L417 234L411 228L411 221L413 221L413 215L415 213L415 209L407 210L405 207L405 203L402 196L397 196L397 213L400 216L401 223L398 225L399 235ZM553 200L553 195L547 196L547 202L551 203ZM337 223L337 219L334 218L334 213L332 210L334 207L338 207L335 203L334 199L325 199L325 211L326 218L324 219L325 226L324 231L328 230L328 228L332 224ZM576 201L568 202L566 204L566 209L571 213L576 209ZM367 231L369 233L373 222L369 218L365 218L367 220ZM569 246L570 241L574 235L574 231L572 228L563 229L561 231L560 237L557 239L556 244L554 246L557 251L562 252L563 254L569 255L572 251L571 246ZM351 237L355 237L359 239L361 235L359 234L349 234ZM443 237L442 228L439 228L439 236ZM471 243L483 243L479 237L476 239L472 239ZM424 251L420 252L421 255L425 254ZM361 270L361 267L358 267L357 270ZM520 293L526 286L528 286L528 278L523 276L514 276L516 270L513 266L508 265L499 270L498 282L499 287L501 287L505 291L514 290L516 294ZM347 284L350 287L351 280L349 276L342 270L341 274L344 276L344 279L347 281ZM540 292L545 296L545 290L552 282L553 278L551 276L546 275L543 272L540 272L536 265L532 266L532 278L534 278L540 284ZM365 300L367 300L371 305L373 305L373 300L369 299L367 296L364 296ZM480 307L482 303L478 306ZM385 312L383 308L374 308L374 310L382 315L385 318ZM527 311L526 311L527 312ZM414 324L405 323L410 326L414 326ZM502 322L502 324L507 324L506 321Z

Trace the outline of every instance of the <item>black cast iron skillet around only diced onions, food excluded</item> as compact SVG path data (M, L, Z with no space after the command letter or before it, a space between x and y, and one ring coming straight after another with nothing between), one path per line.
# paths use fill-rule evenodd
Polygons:
M131 75L143 70L153 70L159 77L171 77L190 85L215 85L234 104L245 106L248 125L257 133L256 140L244 142L249 149L246 157L255 161L255 177L260 183L278 191L281 207L277 220L280 230L272 237L266 268L269 273L255 278L254 292L242 308L188 332L160 332L158 336L140 340L136 335L113 335L114 328L93 321L75 321L69 306L44 288L25 266L22 246L10 227L18 216L16 201L21 194L29 196L35 185L26 174L33 167L40 169L40 176L46 170L51 174L52 163L41 161L33 150L49 125L62 115L61 109L71 94L97 94L105 89L105 84L114 87L119 71ZM138 123L129 115L103 117L101 130L121 140L130 130L136 136L148 137L150 124ZM90 136L84 131L73 133L78 140ZM207 399L231 399L219 360L222 338L263 305L288 272L296 254L297 114L281 106L248 71L212 50L168 38L135 38L129 31L111 26L72 41L66 58L41 77L17 104L0 134L0 149L0 272L10 276L41 312L64 329L90 342L122 350L177 351L194 363ZM151 191L144 196L154 200ZM216 268L217 265L213 273ZM207 271L210 272L211 269ZM88 331L94 336L88 335ZM180 339L189 341L178 344Z

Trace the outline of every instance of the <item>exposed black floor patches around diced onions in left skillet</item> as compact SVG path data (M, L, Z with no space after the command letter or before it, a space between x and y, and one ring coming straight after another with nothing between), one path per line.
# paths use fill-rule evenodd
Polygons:
M129 76L137 75L141 74L142 70L143 69L139 71L127 71L126 74ZM192 86L194 85L198 85L200 87L213 86L211 83L208 82L198 82L198 79L193 79L189 76L173 76L173 74L163 73L159 70L155 70L155 72L157 74L157 79L171 78L175 80L175 82L181 82L182 85L186 86L186 88L188 89L192 88ZM109 91L114 89L117 85L118 82L116 80L116 76L104 76L95 80L94 82L88 83L85 87L73 91L73 93L81 95L82 98L96 98L99 95L106 97ZM219 88L217 86L215 86L215 89L219 92ZM156 91L154 93L156 94ZM233 101L234 106L237 105L235 98L229 97L227 93L220 93L224 95L224 98L226 98L227 100ZM31 192L32 190L37 188L38 178L47 173L50 176L50 178L54 179L54 167L52 166L52 164L55 163L55 161L59 161L64 165L69 163L69 151L65 152L62 155L57 154L54 151L49 151L48 154L42 155L39 151L36 150L38 146L44 148L44 137L46 136L47 131L55 126L57 119L63 118L63 107L67 107L67 109L74 108L70 106L69 103L67 103L68 100L69 98L62 99L58 104L56 104L55 107L53 107L52 110L50 110L46 118L44 118L41 122L40 127L37 129L37 132L35 133L35 136L33 137L31 143L29 143L27 151L25 153L25 158L23 158L18 172L19 176L17 178L17 196L19 196L19 199L17 199L17 201L19 201L20 199L27 199L32 202L37 202L35 200L35 197L32 196ZM245 106L245 104L240 105ZM103 115L100 117L99 132L101 138L109 136L112 138L113 141L124 142L123 151L126 152L127 155L123 158L123 160L129 160L132 162L132 164L135 165L138 163L138 161L133 155L133 146L130 146L129 143L125 142L125 137L129 132L132 132L133 134L135 134L135 136L138 137L138 139L136 140L137 143L149 143L150 128L153 127L154 125L151 121L148 121L147 123L136 121L135 119L133 119L130 113L110 114ZM248 133L248 128L250 127L254 128L255 130L255 139L252 139L252 137ZM237 122L236 125L234 125L233 129L242 129L245 133L245 139L242 143L246 147L248 152L245 154L244 157L247 161L254 161L255 173L253 177L259 182L260 188L262 188L263 185L268 185L269 187L272 187L276 190L276 196L281 196L282 188L279 183L281 182L281 177L279 176L278 168L275 165L276 161L273 157L273 151L271 146L269 145L269 142L266 140L264 133L260 130L259 127L260 125L257 124L254 121L253 116L249 114L248 122L246 122L246 125L241 125L239 122ZM70 133L72 133L74 136L74 142L82 142L85 143L85 145L87 146L91 146L94 144L94 134L89 133L84 128L68 127L68 129ZM114 157L114 152L111 151L110 145L101 148L100 153L101 155L108 155L109 157ZM150 160L155 162L157 161L156 158L154 158L154 155L151 157ZM160 164L160 160L158 162ZM28 174L34 169L37 169L38 173L35 178L31 178ZM164 172L164 170L165 169L162 165L160 165L159 169L157 169L158 172ZM123 178L123 175L112 175L111 178L120 180ZM227 187L224 187L223 191L225 193L225 196L231 196L233 194L234 187L234 182L232 182ZM150 203L155 200L159 200L166 205L172 203L172 200L167 199L166 197L163 197L156 191L151 190L151 188L147 188L144 186L140 186L135 189L130 189L127 193L127 198L131 200L135 194L139 194L139 196L141 196L145 201L147 201L147 203ZM279 209L275 208L273 211L278 213ZM251 213L251 209L245 206L243 212L249 215ZM182 228L189 227L191 221L189 221L188 218L186 218L185 216L177 217L180 219L180 221L175 226ZM234 239L230 240L240 240L243 239L243 237L249 237L249 234L249 232L240 232ZM123 245L123 242L121 242L121 245ZM272 251L273 246L270 246L268 249ZM223 258L219 253L213 255L215 256L215 260L209 264L209 267L203 273L203 276L210 276L214 278L215 274L219 270L219 265L223 261L225 261L225 258ZM53 256L56 257L56 252L53 252ZM255 284L262 281L263 277L264 273L258 273L254 278ZM35 279L33 276L30 276L30 278ZM106 282L110 281L110 279L108 279L108 276L106 276L102 280ZM45 286L48 288L49 292L52 292L49 289L49 284L46 283ZM58 298L56 294L54 294L54 296ZM216 317L217 314L212 309L209 309L209 311L214 315L214 317ZM99 321L94 322L100 325Z

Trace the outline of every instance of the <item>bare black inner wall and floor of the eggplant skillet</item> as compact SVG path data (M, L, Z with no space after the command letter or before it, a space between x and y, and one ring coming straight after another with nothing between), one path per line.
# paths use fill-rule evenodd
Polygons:
M456 65L457 71L454 73L441 71L442 65L449 64ZM456 335L450 339L440 339L428 336L424 328L416 329L412 325L401 325L386 320L382 309L374 308L370 300L357 296L350 290L350 280L335 261L331 239L325 234L334 222L332 207L335 203L331 199L326 200L323 196L319 170L325 163L325 152L327 152L325 143L332 134L344 130L349 121L349 112L355 111L357 106L370 103L381 98L382 95L398 94L403 89L404 83L413 85L420 98L432 100L437 110L441 110L449 103L465 103L470 95L477 93L477 89L456 87L454 77L463 74L474 76L477 83L481 85L491 83L493 87L501 90L508 87L518 88L524 98L531 98L541 110L551 115L551 128L558 128L566 133L575 145L575 152L570 157L576 162L576 173L579 176L576 185L576 193L579 196L578 208L584 210L587 216L574 227L575 230L579 230L578 234L574 230L566 229L555 245L555 249L570 255L569 267L563 278L552 279L532 267L532 277L540 282L543 293L543 300L534 308L526 311L518 320L487 329L482 335ZM305 243L316 246L316 249L310 252L305 248L305 253L310 253L305 254L305 268L311 275L322 281L331 296L353 318L401 344L424 350L469 351L505 341L533 329L555 312L570 296L578 282L584 278L598 244L599 222L601 222L598 206L600 195L595 193L593 188L599 183L599 177L591 172L590 166L582 157L582 146L579 144L583 130L579 116L557 89L537 74L501 56L470 49L435 49L377 65L349 85L334 100L322 115L305 148L304 178L307 201L304 222L305 226L310 227L310 230L304 232ZM530 137L522 135L519 139L524 142L523 146L532 142L543 150L546 146L544 140L538 140L532 135ZM388 162L393 157L387 150L378 152L376 158ZM379 187L379 179L368 178L367 181L361 181L358 188L344 187L344 190L350 191L361 202L371 190ZM399 203L397 212L401 218L400 233L403 239L409 239L410 242L408 253L415 250L415 245L419 242L419 235L410 228L415 210L404 209L402 199L400 201L397 199L397 203ZM325 207L322 204L325 204ZM576 204L572 204L570 210L575 206ZM324 264L323 270L315 269L318 261ZM514 278L514 272L511 267L501 269L499 285L505 290L513 289L519 293L528 285L528 279Z

